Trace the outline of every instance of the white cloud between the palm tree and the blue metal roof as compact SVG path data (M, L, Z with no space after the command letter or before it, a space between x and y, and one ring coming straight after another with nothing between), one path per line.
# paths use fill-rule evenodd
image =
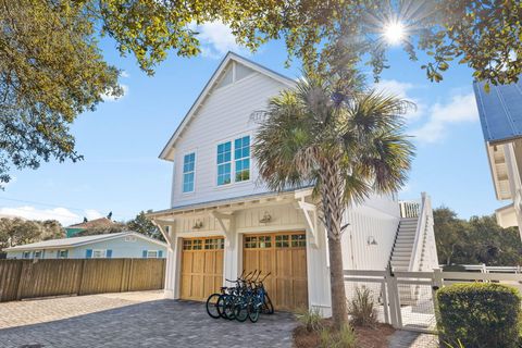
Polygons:
M473 92L455 95L449 103L435 103L430 108L427 123L413 132L421 142L436 142L444 138L449 125L478 120Z

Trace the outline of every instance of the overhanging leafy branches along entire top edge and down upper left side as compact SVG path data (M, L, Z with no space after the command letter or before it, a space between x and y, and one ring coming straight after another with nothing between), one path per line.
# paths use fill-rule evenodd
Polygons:
M0 184L11 166L82 159L70 124L104 94L122 94L100 34L148 74L169 52L199 54L195 25L222 21L252 51L281 38L288 62L344 77L366 63L378 77L387 67L383 34L400 21L401 45L412 60L428 53L432 80L458 61L476 79L505 84L522 72L521 13L519 0L1 0Z

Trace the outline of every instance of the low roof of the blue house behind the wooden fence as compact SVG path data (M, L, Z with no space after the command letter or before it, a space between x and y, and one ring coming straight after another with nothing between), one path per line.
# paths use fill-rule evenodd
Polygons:
M61 239L49 239L44 241L30 243L23 246L16 246L11 248L5 248L3 251L16 251L16 250L34 250L34 249L55 249L55 248L74 248L83 245L88 245L92 243L99 243L110 239L115 239L126 236L136 236L140 239L145 239L151 243L156 243L163 247L166 247L166 244L153 238L149 238L134 231L125 231L119 233L110 233L104 235L94 235L94 236L84 236L84 237L71 237L71 238L61 238Z

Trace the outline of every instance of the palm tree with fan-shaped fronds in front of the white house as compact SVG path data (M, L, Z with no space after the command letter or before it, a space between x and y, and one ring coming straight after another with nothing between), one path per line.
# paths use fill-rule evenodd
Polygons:
M347 323L340 238L343 215L372 192L406 182L413 146L403 134L408 101L370 90L347 96L306 74L269 102L253 156L273 190L313 185L328 238L334 323Z

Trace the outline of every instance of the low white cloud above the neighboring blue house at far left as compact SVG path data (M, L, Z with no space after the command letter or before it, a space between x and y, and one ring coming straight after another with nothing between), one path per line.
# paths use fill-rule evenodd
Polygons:
M78 215L66 208L37 209L32 206L0 208L0 215L20 216L27 220L40 221L58 220L63 226L80 223L84 220L84 216L89 220L102 216L100 212L92 209L85 210L83 215Z

